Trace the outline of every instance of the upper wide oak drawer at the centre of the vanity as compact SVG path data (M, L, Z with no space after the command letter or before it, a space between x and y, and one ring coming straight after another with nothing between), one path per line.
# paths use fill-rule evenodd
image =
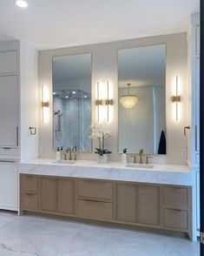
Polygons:
M79 180L78 196L97 199L112 199L113 185L111 182L106 181Z

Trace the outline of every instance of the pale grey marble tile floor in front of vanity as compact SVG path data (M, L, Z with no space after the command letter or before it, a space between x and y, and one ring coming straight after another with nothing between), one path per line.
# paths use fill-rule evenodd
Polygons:
M198 256L199 243L169 234L0 211L0 256Z

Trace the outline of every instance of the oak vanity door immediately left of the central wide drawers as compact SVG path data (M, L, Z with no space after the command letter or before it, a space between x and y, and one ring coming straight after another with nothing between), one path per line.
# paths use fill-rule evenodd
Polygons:
M57 181L57 212L74 213L74 180L59 179Z

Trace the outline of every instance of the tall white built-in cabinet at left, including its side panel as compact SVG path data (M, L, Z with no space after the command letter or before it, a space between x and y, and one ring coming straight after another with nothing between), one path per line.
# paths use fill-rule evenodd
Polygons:
M37 51L19 41L0 43L0 209L18 211L18 160L36 158ZM18 139L19 138L19 139Z

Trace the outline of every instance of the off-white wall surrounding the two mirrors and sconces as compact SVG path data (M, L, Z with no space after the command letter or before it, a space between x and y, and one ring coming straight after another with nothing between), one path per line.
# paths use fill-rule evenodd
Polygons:
M92 121L95 122L95 88L97 81L113 86L113 119L107 125L112 132L112 138L107 140L107 148L113 151L109 156L113 160L119 159L118 154L118 78L117 78L117 51L119 49L134 48L138 46L166 44L167 45L167 71L166 71L166 119L167 119L167 156L155 156L154 161L172 164L186 163L186 158L181 157L181 149L187 149L187 138L183 136L183 127L188 124L188 86L187 86L187 35L186 33L145 37L125 40L108 44L93 44L80 47L63 48L39 52L39 88L43 84L49 87L49 101L52 104L52 57L69 54L92 53ZM181 80L181 119L174 121L174 104L171 97L174 93L174 77L180 76ZM40 102L38 103L40 106ZM49 108L49 123L43 125L42 109L39 110L39 141L40 157L55 157L52 151L52 107ZM95 145L94 145L95 146ZM96 158L94 153L82 154L81 158Z

